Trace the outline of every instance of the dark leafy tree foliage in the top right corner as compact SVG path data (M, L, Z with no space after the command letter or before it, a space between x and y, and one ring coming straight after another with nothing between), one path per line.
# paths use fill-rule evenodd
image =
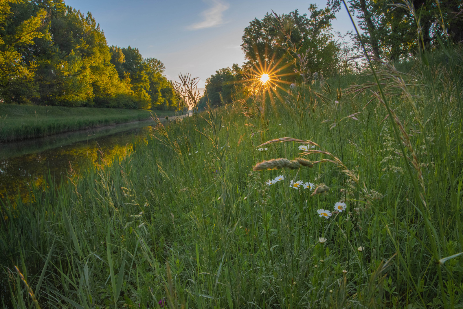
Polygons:
M363 30L361 39L367 43L376 57L400 60L413 57L419 48L417 22L412 12L402 7L403 0L348 0ZM419 17L420 32L426 48L440 48L438 37L449 39L449 43L463 40L463 19L459 12L463 4L458 0L440 3L435 0L412 1ZM328 6L337 12L344 5L339 0L328 0ZM446 30L444 30L446 29ZM353 39L359 44L357 37Z

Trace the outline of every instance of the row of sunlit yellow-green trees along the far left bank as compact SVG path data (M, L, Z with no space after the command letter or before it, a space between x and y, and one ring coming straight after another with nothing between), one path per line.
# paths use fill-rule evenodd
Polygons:
M156 108L178 106L164 65L109 47L92 14L63 0L0 1L4 103Z

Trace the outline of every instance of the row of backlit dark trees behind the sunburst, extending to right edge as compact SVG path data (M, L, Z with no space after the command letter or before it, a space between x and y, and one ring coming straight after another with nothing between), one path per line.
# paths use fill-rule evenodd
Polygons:
M463 40L463 2L461 0L346 0L350 13L359 20L361 39L377 58L403 61L419 49L417 29L423 33L428 49ZM395 4L394 4L395 3ZM206 97L200 105L222 105L232 101L232 94L243 90L243 70L259 74L269 68L288 83L297 82L297 62L304 62L307 73L323 73L325 77L350 74L360 69L350 56L360 54L360 40L355 33L344 35L332 31L335 14L341 10L340 0L328 0L319 9L311 4L309 14L298 10L288 14L267 13L254 19L244 29L241 48L247 62L240 68L223 68L206 80ZM414 11L414 12L413 12ZM288 50L297 51L289 55ZM294 62L294 59L299 61ZM300 63L299 63L300 65ZM266 72L265 72L266 73Z

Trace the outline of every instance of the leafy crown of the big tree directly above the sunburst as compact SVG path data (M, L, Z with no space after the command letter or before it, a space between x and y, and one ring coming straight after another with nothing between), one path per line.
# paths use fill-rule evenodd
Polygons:
M326 72L336 64L337 44L333 41L331 33L331 20L334 13L328 7L318 9L311 4L310 16L300 15L298 10L289 14L282 14L279 18L283 26L287 28L290 37L283 36L278 31L277 18L267 13L263 19L254 19L244 29L243 49L245 58L248 59L247 68L282 67L288 60L286 50L282 48L287 40L298 46L299 52L304 54L308 50L310 57L309 67L312 72ZM285 68L279 74L285 75L292 72L292 67ZM295 75L283 79L294 80Z

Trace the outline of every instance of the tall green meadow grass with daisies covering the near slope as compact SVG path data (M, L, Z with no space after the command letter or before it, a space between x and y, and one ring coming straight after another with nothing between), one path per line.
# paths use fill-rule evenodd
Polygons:
M371 93L347 93L370 77L344 76L158 126L124 158L33 188L31 204L2 208L5 308L32 305L13 265L42 308L159 308L162 297L169 308L460 308L458 55L453 66L416 59L410 75L378 68L403 76L416 104L400 80L383 80L395 124ZM298 142L257 150L284 136L325 153L302 155ZM331 161L252 170L300 156ZM329 190L290 187L300 179Z

